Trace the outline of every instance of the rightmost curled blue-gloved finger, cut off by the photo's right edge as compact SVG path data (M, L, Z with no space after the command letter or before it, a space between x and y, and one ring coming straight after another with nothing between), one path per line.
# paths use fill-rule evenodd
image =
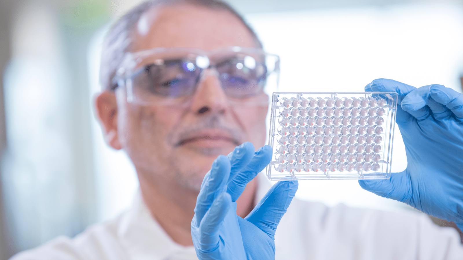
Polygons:
M463 118L463 94L442 85L433 85L429 90L432 99L445 105L457 118Z

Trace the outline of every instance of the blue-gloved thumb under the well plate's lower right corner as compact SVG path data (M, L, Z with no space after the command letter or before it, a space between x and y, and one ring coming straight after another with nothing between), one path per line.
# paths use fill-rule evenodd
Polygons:
M412 183L407 170L391 173L389 180L358 180L358 184L364 190L381 197L392 198L409 205L412 203Z

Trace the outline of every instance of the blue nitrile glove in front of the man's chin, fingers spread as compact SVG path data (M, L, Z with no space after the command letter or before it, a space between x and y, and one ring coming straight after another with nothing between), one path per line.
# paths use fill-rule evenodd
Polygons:
M298 182L277 182L246 218L236 215L236 200L271 156L268 145L254 153L254 146L245 142L214 161L204 177L191 221L200 260L275 259L276 226L294 198Z

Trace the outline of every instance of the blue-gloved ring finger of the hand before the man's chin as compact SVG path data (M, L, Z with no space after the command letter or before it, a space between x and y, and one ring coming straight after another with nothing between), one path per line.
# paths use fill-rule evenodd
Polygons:
M225 192L230 176L230 161L224 155L219 155L212 164L211 170L204 176L201 190L196 199L194 213L196 223L200 223L214 199Z

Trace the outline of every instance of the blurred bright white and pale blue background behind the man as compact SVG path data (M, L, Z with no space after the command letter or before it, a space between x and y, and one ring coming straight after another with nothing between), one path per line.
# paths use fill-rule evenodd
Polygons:
M93 98L106 28L138 2L0 0L0 260L131 204L133 166L104 143ZM463 0L228 2L281 56L279 91L362 91L391 78L462 92ZM406 166L396 129L393 171ZM349 180L304 181L296 196L413 210Z

